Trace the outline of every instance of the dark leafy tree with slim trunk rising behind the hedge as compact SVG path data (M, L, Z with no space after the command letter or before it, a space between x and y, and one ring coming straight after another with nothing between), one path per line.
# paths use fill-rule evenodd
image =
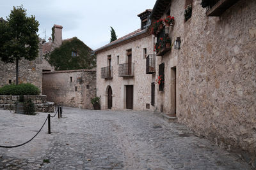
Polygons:
M38 57L38 26L35 16L26 17L23 6L13 6L7 22L0 22L0 57L4 62L16 62L16 85L19 84L19 60Z

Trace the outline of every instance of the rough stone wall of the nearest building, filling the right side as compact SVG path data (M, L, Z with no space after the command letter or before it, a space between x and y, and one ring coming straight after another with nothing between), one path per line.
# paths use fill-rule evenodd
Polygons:
M256 1L238 1L221 17L206 17L196 0L187 22L184 3L172 1L170 36L182 44L158 60L166 64L166 86L157 105L171 111L176 66L178 121L256 167Z

